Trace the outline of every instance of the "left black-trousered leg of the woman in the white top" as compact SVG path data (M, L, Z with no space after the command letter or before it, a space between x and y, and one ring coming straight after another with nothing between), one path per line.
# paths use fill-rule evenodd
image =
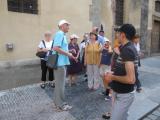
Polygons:
M41 84L41 88L45 88L47 66L46 66L46 61L44 60L41 60L41 70L42 70L41 80L43 81L43 83Z

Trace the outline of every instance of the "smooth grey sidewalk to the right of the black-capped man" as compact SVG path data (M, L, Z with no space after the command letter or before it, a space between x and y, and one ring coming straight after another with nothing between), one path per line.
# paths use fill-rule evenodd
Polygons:
M130 109L129 120L138 120L160 105L160 56L142 60L140 81L143 91L136 94ZM143 119L142 119L143 120ZM156 120L156 119L150 119Z

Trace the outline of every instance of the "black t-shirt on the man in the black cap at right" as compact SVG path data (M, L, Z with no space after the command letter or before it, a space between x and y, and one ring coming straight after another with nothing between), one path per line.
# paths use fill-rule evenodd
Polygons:
M137 51L133 43L128 42L120 48L120 55L115 63L114 75L125 76L125 63L126 61L135 61L137 60ZM136 67L136 65L135 65ZM136 70L136 69L135 69ZM124 84L117 81L112 81L110 83L111 88L117 93L129 93L134 90L134 84Z

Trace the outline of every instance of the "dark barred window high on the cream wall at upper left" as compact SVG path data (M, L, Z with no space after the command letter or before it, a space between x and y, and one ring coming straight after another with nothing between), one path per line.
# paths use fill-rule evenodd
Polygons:
M8 11L38 14L38 0L7 0Z

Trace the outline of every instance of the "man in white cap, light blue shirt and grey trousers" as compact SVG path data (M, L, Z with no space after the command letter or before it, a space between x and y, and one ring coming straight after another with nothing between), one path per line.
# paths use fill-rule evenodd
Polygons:
M54 103L57 109L69 110L72 106L65 103L65 78L66 78L66 65L69 65L69 58L76 61L76 58L68 51L68 42L66 33L69 31L70 23L66 20L60 20L58 27L59 31L54 36L53 50L58 52L58 68L55 72L55 91Z

